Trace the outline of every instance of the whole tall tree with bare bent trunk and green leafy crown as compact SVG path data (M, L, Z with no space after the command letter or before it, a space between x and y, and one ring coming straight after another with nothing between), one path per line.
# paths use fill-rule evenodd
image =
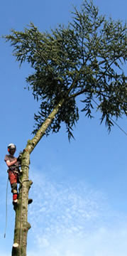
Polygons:
M26 256L28 229L28 178L30 154L43 135L59 132L65 123L68 138L79 119L77 96L82 95L82 111L92 118L93 100L109 131L111 117L127 116L127 83L123 65L127 59L126 23L99 16L92 1L84 0L81 9L72 12L67 27L40 33L33 23L24 31L12 30L5 36L20 63L34 70L26 78L40 109L35 114L33 139L23 150L23 174L15 207L16 223L12 256Z

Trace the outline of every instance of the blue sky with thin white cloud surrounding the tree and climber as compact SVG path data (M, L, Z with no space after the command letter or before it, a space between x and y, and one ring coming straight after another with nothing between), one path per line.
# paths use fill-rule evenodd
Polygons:
M1 35L11 28L23 30L31 21L40 31L70 21L72 5L82 1L27 0L1 1ZM100 14L126 20L126 0L94 0ZM24 90L31 68L18 67L9 43L1 40L1 212L0 256L10 256L13 244L14 211L8 192L6 239L5 198L6 147L13 142L18 152L32 138L34 112L38 103ZM80 103L79 103L80 104ZM82 108L82 106L81 106ZM28 256L126 256L127 255L127 137L114 126L109 134L99 124L100 114L92 120L81 112L75 140L67 140L65 127L59 134L43 138L31 154L30 178L33 180L28 220ZM118 124L127 132L126 118Z

